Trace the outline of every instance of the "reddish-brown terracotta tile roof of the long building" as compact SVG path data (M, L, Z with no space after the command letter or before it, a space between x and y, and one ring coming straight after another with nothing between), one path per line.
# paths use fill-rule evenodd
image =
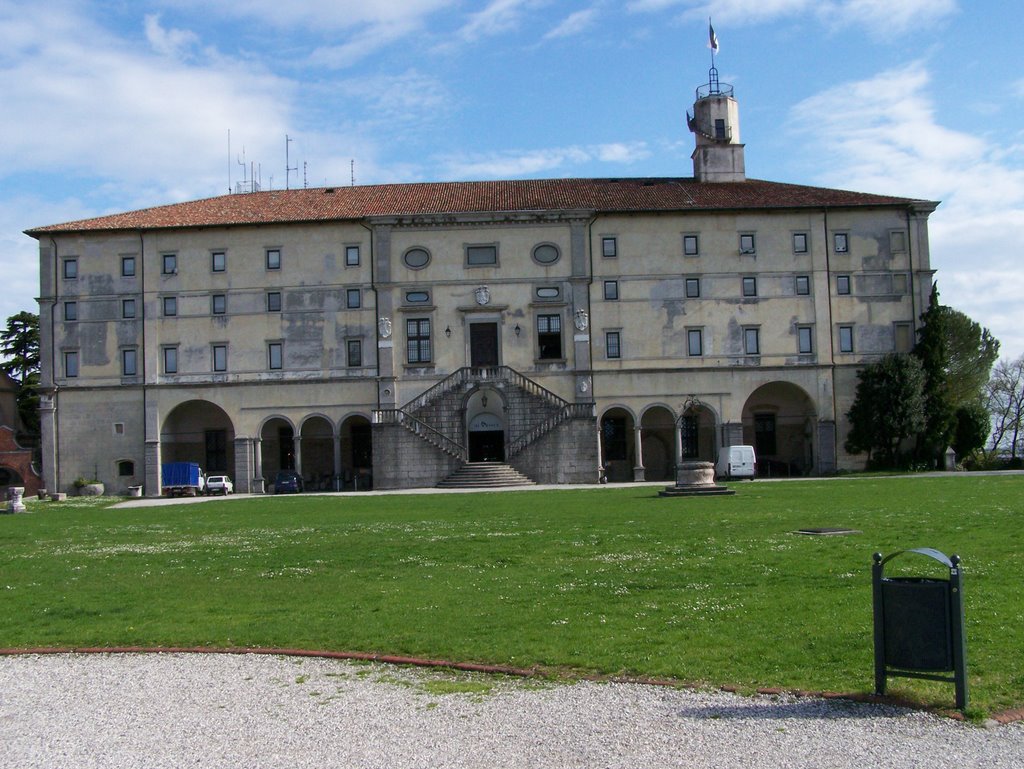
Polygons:
M63 224L28 234L165 229L373 216L583 210L598 213L822 207L906 207L908 198L748 179L701 183L692 178L518 179L317 187L227 195Z

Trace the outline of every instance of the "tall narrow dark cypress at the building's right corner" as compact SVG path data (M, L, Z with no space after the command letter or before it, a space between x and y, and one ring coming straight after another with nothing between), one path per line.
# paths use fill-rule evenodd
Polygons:
M928 309L921 313L921 329L913 355L925 372L925 428L918 434L918 459L939 465L956 429L956 404L949 388L949 313L939 303L938 284L932 284Z

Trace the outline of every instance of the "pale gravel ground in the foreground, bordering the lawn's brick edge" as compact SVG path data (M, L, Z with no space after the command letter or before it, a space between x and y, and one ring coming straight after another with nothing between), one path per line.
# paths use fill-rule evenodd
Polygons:
M0 657L0 767L940 766L1024 766L1024 725L257 654Z

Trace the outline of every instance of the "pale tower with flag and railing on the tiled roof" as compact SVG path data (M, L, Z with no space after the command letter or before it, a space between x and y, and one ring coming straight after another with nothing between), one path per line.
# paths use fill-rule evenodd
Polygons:
M718 38L712 32L712 66L708 82L697 88L693 115L686 113L686 125L696 137L693 176L697 181L743 181L743 145L739 141L739 104L732 86L720 83L715 69Z

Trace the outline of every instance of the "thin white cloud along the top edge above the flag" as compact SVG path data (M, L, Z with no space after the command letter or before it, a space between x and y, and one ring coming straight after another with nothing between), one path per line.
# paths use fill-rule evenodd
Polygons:
M634 0L627 8L636 12L681 8L684 18L712 16L716 28L814 14L829 27L857 25L890 38L950 15L956 11L956 0Z

